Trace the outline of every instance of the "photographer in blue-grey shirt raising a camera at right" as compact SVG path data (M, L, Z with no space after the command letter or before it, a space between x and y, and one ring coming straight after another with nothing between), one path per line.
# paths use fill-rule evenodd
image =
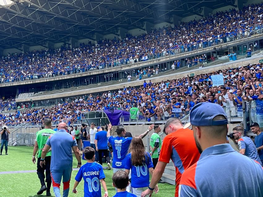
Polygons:
M257 161L262 166L257 153L257 148L252 139L244 135L244 129L242 126L234 127L233 132L229 134L229 137L233 140L236 147L239 149L239 153Z

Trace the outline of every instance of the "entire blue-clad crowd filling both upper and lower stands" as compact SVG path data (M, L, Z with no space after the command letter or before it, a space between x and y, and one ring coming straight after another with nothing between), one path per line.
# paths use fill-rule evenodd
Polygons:
M123 40L105 39L96 45L80 44L78 48L62 46L55 50L8 54L2 57L0 63L1 83L105 69L249 37L262 33L262 6L252 4L240 11L217 12L198 21L182 22L175 28L154 29L141 36L127 34ZM205 58L196 56L188 61L188 66L202 63ZM151 71L146 69L140 74L146 75ZM223 74L223 86L213 86L211 75L217 74ZM66 122L74 125L89 111L129 111L132 107L138 108L139 116L145 120L165 120L173 116L183 118L199 102L218 103L229 111L229 116L240 117L243 115L243 100L246 110L251 110L252 122L263 122L262 85L262 64L240 65L157 83L152 83L150 79L141 80L139 87L123 87L103 92L101 96L94 92L49 108L36 108L30 103L17 106L13 97L0 101L0 120L8 126L18 126L23 122L42 125L44 119L49 117L54 124ZM174 113L173 109L180 109L180 113ZM8 113L10 110L15 111Z

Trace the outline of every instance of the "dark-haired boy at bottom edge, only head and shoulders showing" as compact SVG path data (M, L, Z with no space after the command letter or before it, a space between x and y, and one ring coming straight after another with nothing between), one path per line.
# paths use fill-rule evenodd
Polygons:
M129 185L128 174L122 170L115 172L112 176L112 185L117 188L117 193L113 197L136 197L135 194L126 191Z

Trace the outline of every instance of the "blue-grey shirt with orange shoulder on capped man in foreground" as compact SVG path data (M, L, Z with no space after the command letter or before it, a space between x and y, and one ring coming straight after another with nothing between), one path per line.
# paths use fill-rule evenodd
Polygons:
M236 152L230 144L211 146L202 152L194 165L184 171L179 197L185 196L262 197L262 166Z

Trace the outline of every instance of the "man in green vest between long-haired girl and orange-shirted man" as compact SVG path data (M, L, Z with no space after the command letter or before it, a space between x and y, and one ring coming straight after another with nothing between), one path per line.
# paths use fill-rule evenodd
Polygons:
M150 139L150 149L151 149L150 155L153 159L153 169L155 169L162 148L162 140L160 138L160 135L158 134L161 131L161 127L159 125L154 125L153 129L154 132ZM162 179L160 179L158 183L164 183L164 182L162 181Z

